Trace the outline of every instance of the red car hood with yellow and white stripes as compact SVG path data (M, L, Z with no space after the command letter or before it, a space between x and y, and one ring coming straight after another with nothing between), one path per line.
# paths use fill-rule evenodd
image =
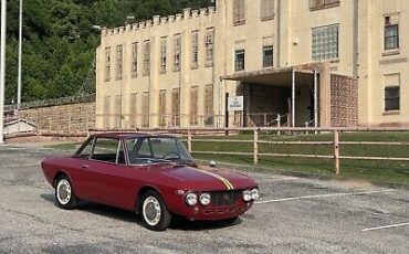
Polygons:
M158 172L172 178L190 190L242 190L256 187L248 176L211 167L161 167Z

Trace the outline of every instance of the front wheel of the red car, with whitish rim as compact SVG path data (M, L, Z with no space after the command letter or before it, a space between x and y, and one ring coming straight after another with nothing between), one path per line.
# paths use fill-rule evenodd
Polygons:
M165 231L171 221L171 214L156 191L147 191L143 194L139 214L145 227L153 231Z

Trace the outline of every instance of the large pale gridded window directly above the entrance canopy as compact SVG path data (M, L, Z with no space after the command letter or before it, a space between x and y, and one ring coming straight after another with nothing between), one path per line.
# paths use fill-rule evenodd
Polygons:
M338 59L338 24L313 29L314 61Z

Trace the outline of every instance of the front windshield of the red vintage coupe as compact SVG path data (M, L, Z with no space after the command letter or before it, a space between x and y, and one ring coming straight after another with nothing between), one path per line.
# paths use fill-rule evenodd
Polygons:
M126 140L129 165L151 162L192 162L183 144L172 137L129 138Z

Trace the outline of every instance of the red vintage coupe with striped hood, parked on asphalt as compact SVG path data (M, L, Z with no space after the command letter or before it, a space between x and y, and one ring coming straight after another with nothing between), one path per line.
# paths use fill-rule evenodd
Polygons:
M57 207L87 200L135 211L155 231L166 230L172 215L233 221L259 199L252 179L198 167L183 144L166 135L96 134L73 156L41 166Z

